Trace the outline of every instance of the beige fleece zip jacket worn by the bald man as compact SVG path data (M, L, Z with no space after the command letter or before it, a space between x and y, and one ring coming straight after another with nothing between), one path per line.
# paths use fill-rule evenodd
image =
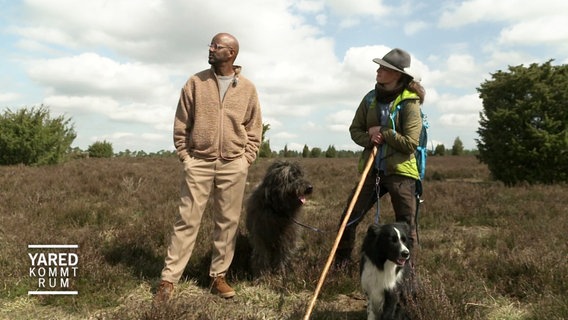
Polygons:
M262 138L258 94L251 81L241 75L236 79L223 101L212 69L191 76L183 86L174 121L181 161L189 155L209 160L244 155L249 164L256 159Z

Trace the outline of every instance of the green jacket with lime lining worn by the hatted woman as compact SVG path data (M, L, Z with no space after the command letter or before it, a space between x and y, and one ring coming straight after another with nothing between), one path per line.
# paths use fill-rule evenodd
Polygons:
M359 159L359 173L363 172L373 149L368 129L379 125L376 108L375 90L371 90L359 104L349 127L351 139L365 148ZM385 175L398 174L418 179L414 156L422 130L418 95L405 89L391 105L390 115L388 125L381 128L386 144L382 155L377 154L380 157L377 160L386 161Z

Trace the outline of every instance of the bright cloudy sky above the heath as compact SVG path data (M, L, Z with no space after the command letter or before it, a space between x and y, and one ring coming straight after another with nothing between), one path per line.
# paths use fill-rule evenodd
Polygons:
M0 112L49 108L73 147L174 150L181 87L228 32L272 150L360 150L349 125L393 48L426 89L429 147L476 149L477 88L509 66L568 63L566 0L0 0Z

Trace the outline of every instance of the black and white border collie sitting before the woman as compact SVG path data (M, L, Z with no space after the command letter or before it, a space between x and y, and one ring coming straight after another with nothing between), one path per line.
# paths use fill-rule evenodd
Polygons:
M410 230L406 223L369 226L361 255L361 287L367 319L410 319L402 308L405 278L410 275Z

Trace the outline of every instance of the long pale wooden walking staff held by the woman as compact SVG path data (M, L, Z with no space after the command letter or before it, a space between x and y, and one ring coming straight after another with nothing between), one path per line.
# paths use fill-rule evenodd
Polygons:
M367 160L367 164L365 165L365 170L363 170L363 173L361 174L361 180L359 180L359 184L357 185L357 189L355 189L355 193L353 194L353 198L351 199L351 203L349 204L349 207L347 208L347 212L345 212L345 217L343 218L343 222L341 223L341 226L339 227L339 232L337 233L337 237L335 238L335 243L333 244L333 247L331 248L331 252L329 253L329 257L327 258L327 262L325 263L325 267L323 268L323 271L321 273L318 285L316 287L316 291L314 292L314 296L312 297L312 300L310 301L310 304L308 305L308 309L306 310L306 314L304 315L304 320L310 319L310 315L312 314L312 310L314 308L314 305L316 304L318 294L321 290L321 287L323 286L323 282L325 281L325 276L327 275L327 272L329 271L329 267L331 266L331 262L333 261L333 257L335 256L335 252L337 251L337 247L339 246L339 241L341 240L341 237L343 236L343 231L345 230L345 227L347 226L347 222L349 221L349 217L351 216L351 212L353 211L353 207L355 206L355 203L357 202L357 198L359 198L359 193L361 192L361 188L363 188L363 183L365 182L365 179L367 178L367 174L369 173L369 170L373 166L373 162L375 161L376 155L377 155L377 146L374 146L373 150L371 151L371 154L369 155L369 159Z

